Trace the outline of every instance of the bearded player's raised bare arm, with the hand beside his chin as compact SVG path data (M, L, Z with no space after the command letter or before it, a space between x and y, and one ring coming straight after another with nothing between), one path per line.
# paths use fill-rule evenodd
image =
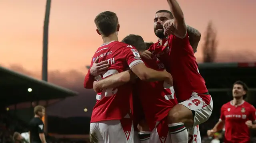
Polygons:
M170 6L170 11L174 16L174 20L167 20L163 27L165 33L170 35L174 33L177 37L184 38L187 34L187 26L184 20L184 14L176 0L167 0Z

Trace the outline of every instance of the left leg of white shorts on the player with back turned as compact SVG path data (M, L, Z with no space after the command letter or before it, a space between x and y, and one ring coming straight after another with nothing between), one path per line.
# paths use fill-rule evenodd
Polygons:
M98 123L90 123L90 143L104 143Z

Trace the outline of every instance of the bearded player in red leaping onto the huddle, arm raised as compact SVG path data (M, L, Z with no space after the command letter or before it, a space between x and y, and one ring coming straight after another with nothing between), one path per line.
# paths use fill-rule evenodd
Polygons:
M155 28L162 25L164 29L156 29L160 40L150 49L172 74L174 90L180 102L168 113L172 142L187 143L189 139L186 127L194 127L210 117L212 98L198 71L183 12L176 0L168 0L168 4L174 20L164 19L166 13L156 14ZM164 38L163 33L169 36Z

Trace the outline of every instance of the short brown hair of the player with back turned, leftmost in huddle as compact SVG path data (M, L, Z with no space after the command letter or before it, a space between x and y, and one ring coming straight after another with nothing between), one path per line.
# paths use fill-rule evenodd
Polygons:
M102 35L109 36L116 32L118 18L114 12L106 11L98 14L94 19L94 23Z

